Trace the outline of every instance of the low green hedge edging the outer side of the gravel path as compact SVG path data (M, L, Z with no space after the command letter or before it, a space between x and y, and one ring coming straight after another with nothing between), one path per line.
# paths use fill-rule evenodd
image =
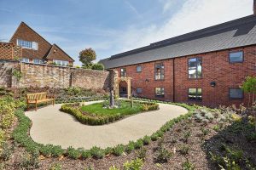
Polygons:
M163 102L161 102L163 103ZM153 133L149 138L148 136L145 136L142 139L137 139L137 141L131 141L129 144L117 145L116 147L108 147L107 149L103 150L99 147L92 147L90 150L84 150L84 149L73 149L72 147L69 147L68 150L61 149L61 146L56 146L53 144L38 144L32 140L32 138L29 135L30 127L32 126L31 120L25 116L24 109L17 109L15 111L15 116L18 117L19 124L17 127L15 127L15 130L12 134L13 139L16 143L20 144L21 146L25 147L26 150L29 153L40 153L43 156L47 157L60 157L60 156L67 156L72 159L86 159L89 157L93 157L95 159L101 159L106 155L113 154L115 156L121 155L121 152L126 152L127 154L131 153L132 150L137 150L141 148L143 145L147 145L150 141L154 141L157 139L160 139L164 133L168 130L170 130L173 125L177 122L181 122L190 116L193 115L193 111L195 111L195 107L185 105L185 104L173 104L172 105L180 105L186 109L189 110L189 113L183 116L178 116L177 118L174 118L170 120L169 122L166 122L164 126L160 128L157 132Z

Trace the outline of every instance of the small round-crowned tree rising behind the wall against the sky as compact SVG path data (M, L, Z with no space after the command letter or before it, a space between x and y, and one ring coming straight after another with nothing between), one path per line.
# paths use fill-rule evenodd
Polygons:
M85 48L79 53L79 61L85 68L91 68L92 61L96 59L96 52L92 48Z

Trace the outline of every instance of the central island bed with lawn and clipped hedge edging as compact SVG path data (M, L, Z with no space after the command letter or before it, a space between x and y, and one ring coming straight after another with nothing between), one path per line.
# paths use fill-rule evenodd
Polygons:
M116 122L126 116L159 109L159 105L153 102L134 101L133 106L131 106L130 100L117 100L116 104L117 107L114 108L108 108L106 101L91 105L66 104L61 105L61 111L73 115L81 123L103 125Z

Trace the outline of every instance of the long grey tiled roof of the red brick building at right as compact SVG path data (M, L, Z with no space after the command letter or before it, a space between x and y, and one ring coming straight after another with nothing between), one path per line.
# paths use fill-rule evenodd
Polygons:
M151 43L100 62L106 69L160 59L203 54L256 44L256 16L249 15L224 24Z

